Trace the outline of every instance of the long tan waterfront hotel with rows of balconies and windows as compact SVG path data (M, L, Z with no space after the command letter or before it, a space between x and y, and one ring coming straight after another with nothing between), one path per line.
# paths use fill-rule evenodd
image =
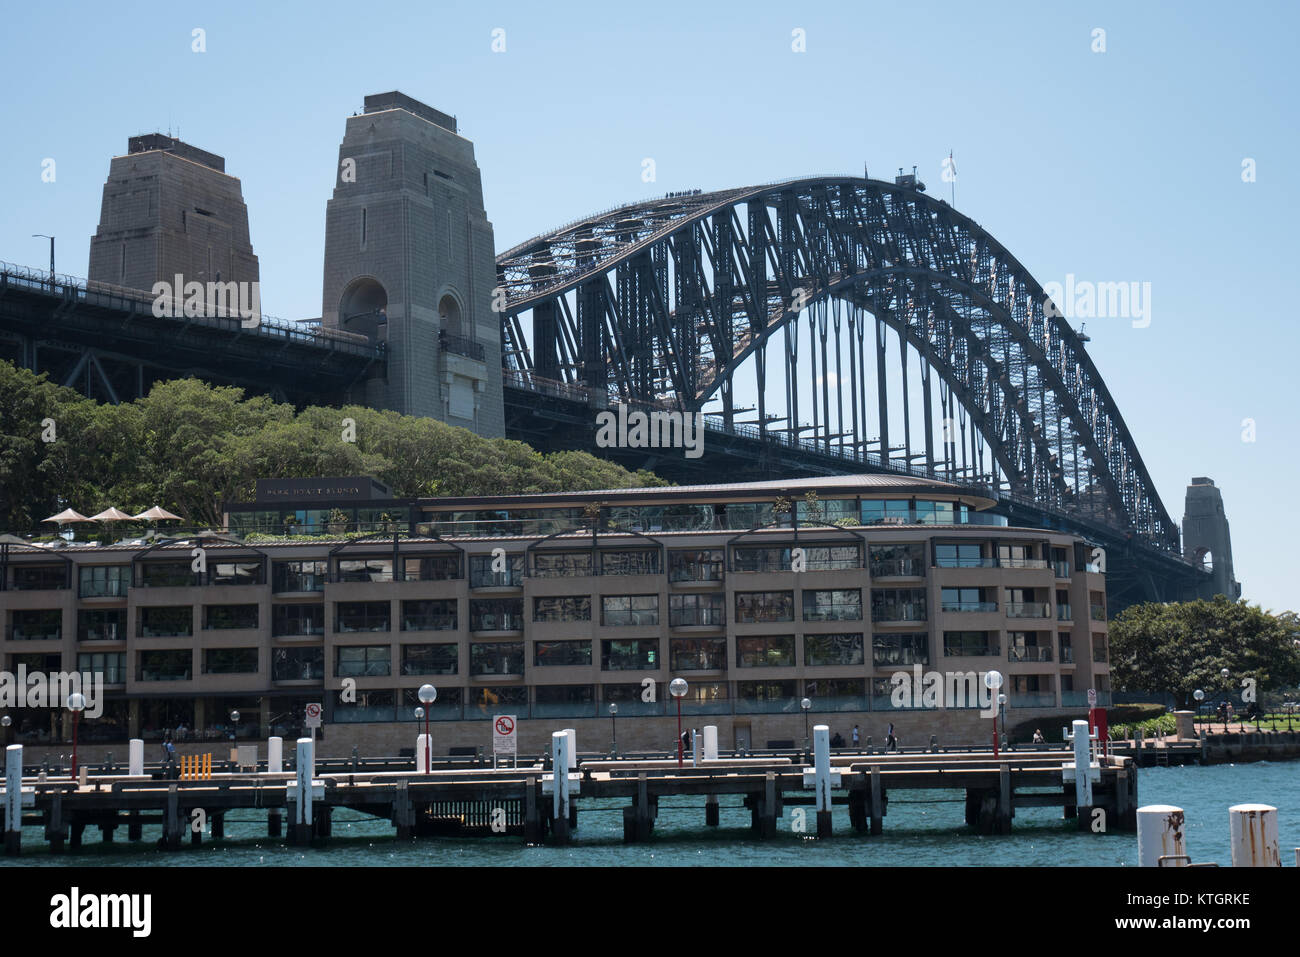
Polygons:
M425 683L443 753L490 753L498 714L525 752L566 727L668 749L673 677L723 748L801 744L803 698L845 742L890 722L904 745L987 742L975 702L896 706L914 666L996 668L1009 724L1050 732L1088 689L1109 702L1105 580L1088 542L993 505L889 475L434 499L264 480L221 537L8 546L4 668L101 672L81 740L120 754L296 736L309 702L322 754L396 754ZM8 741L68 740L65 711L9 714Z

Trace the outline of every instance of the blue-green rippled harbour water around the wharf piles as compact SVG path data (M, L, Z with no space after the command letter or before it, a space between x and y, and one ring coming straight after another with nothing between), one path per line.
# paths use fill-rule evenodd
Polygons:
M1300 762L1150 767L1140 771L1140 804L1171 804L1187 814L1187 846L1197 863L1227 866L1228 815L1234 804L1278 807L1282 861L1295 862L1300 846ZM266 835L264 814L240 811L226 818L226 840L178 852L153 846L157 826L146 841L129 844L125 828L110 845L99 830L86 828L78 853L51 854L39 827L25 828L23 854L0 858L0 866L1135 866L1134 833L1092 833L1061 819L1060 809L1019 809L1013 831L980 836L962 820L963 792L900 792L889 801L884 833L855 835L845 806L835 810L835 837L815 840L814 815L796 830L786 807L774 840L749 830L749 811L737 798L723 804L720 826L705 827L702 798L664 800L654 839L623 843L623 805L578 802L580 822L568 846L524 846L517 836L490 839L419 839L398 843L386 820L337 813L333 837L321 848L289 846Z

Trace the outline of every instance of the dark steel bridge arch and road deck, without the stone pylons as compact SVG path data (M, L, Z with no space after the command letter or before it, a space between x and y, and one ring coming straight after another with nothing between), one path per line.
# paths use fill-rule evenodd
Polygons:
M486 355L500 356L511 438L682 482L941 478L996 498L1011 524L1096 542L1113 610L1208 592L1087 338L915 177L670 194L520 243L495 272ZM156 317L143 291L0 270L0 358L113 402L196 374L338 404L393 376L391 328L384 341L344 325ZM464 337L442 345L484 358ZM594 416L616 403L705 413L703 456L597 449Z

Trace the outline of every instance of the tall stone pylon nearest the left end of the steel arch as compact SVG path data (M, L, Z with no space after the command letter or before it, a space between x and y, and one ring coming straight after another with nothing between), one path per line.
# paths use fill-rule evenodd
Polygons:
M400 92L365 98L325 208L321 324L387 350L351 400L503 436L497 263L473 143Z

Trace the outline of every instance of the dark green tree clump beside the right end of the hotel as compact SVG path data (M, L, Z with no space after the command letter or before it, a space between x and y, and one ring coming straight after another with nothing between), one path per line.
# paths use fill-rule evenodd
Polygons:
M1134 605L1110 623L1110 676L1118 690L1170 692L1184 707L1197 688L1236 696L1245 679L1260 692L1290 688L1300 681L1300 620L1223 596Z

